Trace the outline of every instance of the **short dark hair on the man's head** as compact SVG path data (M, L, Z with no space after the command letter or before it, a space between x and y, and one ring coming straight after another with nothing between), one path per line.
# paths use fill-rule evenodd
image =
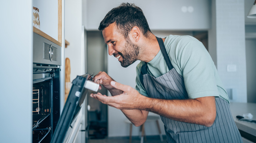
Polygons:
M148 37L149 32L151 33L146 17L141 8L135 4L122 3L111 9L100 22L98 29L102 31L112 23L117 24L117 29L125 38L134 26L138 26L145 37Z

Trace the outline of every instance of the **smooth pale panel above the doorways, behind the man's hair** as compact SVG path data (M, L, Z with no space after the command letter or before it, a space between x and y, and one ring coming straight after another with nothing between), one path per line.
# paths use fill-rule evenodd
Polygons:
M97 30L108 11L122 0L87 0L83 21L87 30ZM139 6L151 30L207 30L211 26L211 1L205 0L140 0L127 2ZM158 9L158 10L155 10ZM159 10L160 9L160 10Z

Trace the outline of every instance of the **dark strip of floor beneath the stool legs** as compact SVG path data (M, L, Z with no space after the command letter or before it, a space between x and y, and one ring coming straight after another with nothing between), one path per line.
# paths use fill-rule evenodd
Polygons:
M88 143L129 143L129 137L110 137L104 139L89 139ZM140 143L139 136L132 137L132 143ZM166 136L163 135L163 141L161 142L160 136L146 136L143 143L166 143Z

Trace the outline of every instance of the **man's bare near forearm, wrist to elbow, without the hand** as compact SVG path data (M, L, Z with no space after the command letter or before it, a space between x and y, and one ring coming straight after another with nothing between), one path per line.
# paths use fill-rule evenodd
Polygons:
M169 119L211 126L216 117L215 97L187 100L146 98L139 107Z

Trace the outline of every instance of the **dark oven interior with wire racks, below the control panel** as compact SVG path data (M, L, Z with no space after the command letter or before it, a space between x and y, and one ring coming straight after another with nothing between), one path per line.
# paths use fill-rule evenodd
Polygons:
M58 68L37 67L33 69L32 92L32 142L50 142L53 135L53 103L59 104L58 92L54 92L54 80L58 78ZM58 83L57 83L58 84ZM56 88L56 87L55 87ZM56 90L56 89L55 89ZM56 117L55 117L56 118ZM55 119L57 120L57 119ZM55 121L57 122L57 121Z

